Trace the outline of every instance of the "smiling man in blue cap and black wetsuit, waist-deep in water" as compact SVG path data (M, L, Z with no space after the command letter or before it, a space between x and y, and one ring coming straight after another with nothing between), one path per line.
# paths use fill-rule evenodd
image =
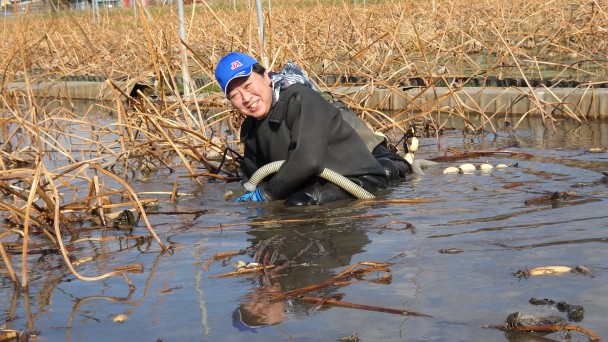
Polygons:
M232 106L246 116L241 126L243 182L260 167L285 161L255 192L237 201L285 200L297 206L353 198L319 177L324 168L369 192L388 186L384 163L295 65L269 73L253 57L232 52L219 61L215 78ZM409 170L407 162L389 166L397 177Z

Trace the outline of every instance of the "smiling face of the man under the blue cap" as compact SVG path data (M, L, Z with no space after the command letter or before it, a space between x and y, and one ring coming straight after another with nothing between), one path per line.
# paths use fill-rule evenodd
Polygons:
M260 75L252 72L249 76L240 77L230 82L228 99L241 114L255 119L262 119L272 106L272 88L268 72Z

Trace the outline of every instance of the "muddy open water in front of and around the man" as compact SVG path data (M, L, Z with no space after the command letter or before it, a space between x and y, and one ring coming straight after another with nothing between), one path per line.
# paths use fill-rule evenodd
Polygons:
M535 297L582 305L583 320L570 323L607 338L608 186L597 181L608 170L608 153L585 148L608 146L608 123L577 126L562 121L553 131L540 119L526 119L516 131L464 137L459 122L454 120L451 125L457 129L446 131L439 142L421 139L418 157L430 158L446 147L508 148L534 157L494 155L441 163L379 194L381 200L437 200L425 204L350 201L306 209L280 203L243 205L224 200L227 191L242 191L236 183L208 182L201 188L182 181L184 195L175 204L168 195L142 196L160 199L150 220L161 239L174 247L171 253L145 239L74 246L76 255L81 247L79 257L94 257L79 266L83 275L143 264L142 273L130 274L134 291L121 278L77 280L59 257L36 256L29 291L17 291L7 277L1 278L0 322L37 333L37 341L335 341L346 336L361 341L537 341L485 327L503 324L516 311L566 317L554 306L531 305ZM512 166L443 174L447 166L464 162ZM175 176L156 174L132 185L140 192L170 192ZM515 182L519 186L510 188ZM577 196L524 204L555 191ZM145 226L140 224L132 234L147 235ZM461 252L440 252L446 249ZM237 250L246 253L205 270L216 253ZM432 317L315 309L294 299L268 303L259 277L213 278L233 271L237 260L253 261L259 250L276 251L279 260L295 262L270 280L266 289L275 290L323 282L357 262L389 261L390 281L372 281L386 275L374 272L309 295L343 293L343 301ZM549 265L582 265L594 275L513 275ZM115 323L118 314L126 321ZM566 339L564 333L545 337ZM581 333L571 337L587 340Z

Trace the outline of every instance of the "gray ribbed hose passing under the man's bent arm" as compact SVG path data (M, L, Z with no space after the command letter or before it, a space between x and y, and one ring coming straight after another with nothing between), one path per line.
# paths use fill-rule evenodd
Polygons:
M244 184L244 187L247 191L253 192L257 188L258 184L262 181L262 179L266 178L266 176L273 174L279 171L281 165L283 165L285 161L279 160L276 162L268 163L261 168L259 168L251 178L249 178L249 182ZM376 196L369 193L367 190L355 184L350 179L342 176L341 174L332 171L328 168L325 168L323 172L319 175L321 178L326 179L342 189L348 191L351 195L360 198L360 199L372 199L376 198Z

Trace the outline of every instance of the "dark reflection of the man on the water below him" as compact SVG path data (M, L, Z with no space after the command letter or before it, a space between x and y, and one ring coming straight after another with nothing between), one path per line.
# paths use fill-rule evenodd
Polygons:
M286 212L278 215L270 213L255 219L273 224L252 226L247 232L251 236L248 254L260 263L269 258L276 260L273 264L278 267L269 271L267 277L262 274L252 281L250 294L233 312L236 328L251 330L280 323L287 310L293 315L306 315L307 307L295 305L290 300L269 300L269 295L326 281L337 274L338 268L349 266L353 256L363 251L370 242L362 229L366 221L365 209L344 207L342 203L334 203L332 207L333 210L331 207L309 208L306 213L286 208ZM315 220L293 224L277 219L283 215L293 219L294 215L303 214ZM353 219L355 217L359 219ZM333 288L316 294L325 297Z

